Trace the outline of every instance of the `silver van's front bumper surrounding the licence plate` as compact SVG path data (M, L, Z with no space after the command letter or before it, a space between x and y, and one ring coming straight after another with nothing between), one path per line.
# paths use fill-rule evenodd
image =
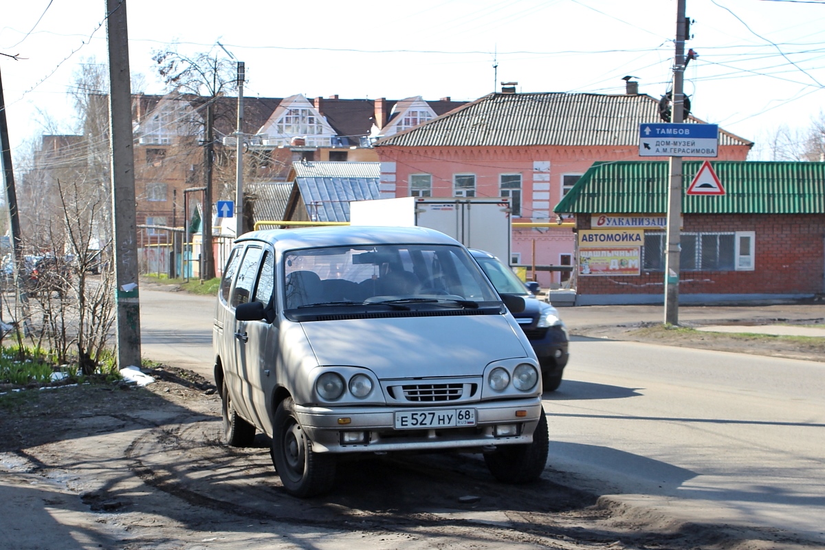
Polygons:
M395 413L475 410L475 425L396 429ZM516 416L517 414L521 416ZM303 407L295 405L295 416L318 453L381 453L390 451L435 451L490 448L506 444L529 444L544 410L540 397L493 402L462 402L439 407ZM514 427L515 426L515 427ZM511 433L507 433L507 429ZM362 441L345 438L344 432L362 434ZM514 433L512 433L514 432ZM498 435L497 435L498 434Z

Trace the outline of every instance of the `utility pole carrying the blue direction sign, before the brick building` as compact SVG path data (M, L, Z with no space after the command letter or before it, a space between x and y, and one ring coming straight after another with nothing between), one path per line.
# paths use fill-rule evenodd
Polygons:
M686 0L676 1L676 55L673 58L671 122L684 122ZM679 252L681 247L681 157L670 157L670 186L667 188L667 259L665 261L665 323L679 324Z

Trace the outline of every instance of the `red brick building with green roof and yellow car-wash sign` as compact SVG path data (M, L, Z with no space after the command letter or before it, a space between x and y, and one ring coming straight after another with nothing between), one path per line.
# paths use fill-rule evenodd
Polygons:
M710 165L725 195L682 197L680 302L825 293L825 163ZM596 163L556 206L576 214L577 305L663 303L668 180L667 162Z

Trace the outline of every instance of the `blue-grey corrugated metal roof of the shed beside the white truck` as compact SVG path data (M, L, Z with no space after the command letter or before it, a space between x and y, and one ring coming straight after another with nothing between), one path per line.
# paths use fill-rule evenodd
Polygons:
M375 164L377 166L378 162L314 162L314 164ZM377 175L375 177L296 177L295 182L306 204L309 219L318 222L348 222L350 221L351 200L383 198L380 195Z

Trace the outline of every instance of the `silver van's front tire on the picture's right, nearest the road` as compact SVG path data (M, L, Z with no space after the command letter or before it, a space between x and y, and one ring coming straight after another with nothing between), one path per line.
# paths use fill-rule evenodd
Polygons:
M547 416L541 411L539 425L535 426L533 433L533 443L502 445L493 453L484 454L484 462L493 477L502 483L530 483L544 472L548 451Z

